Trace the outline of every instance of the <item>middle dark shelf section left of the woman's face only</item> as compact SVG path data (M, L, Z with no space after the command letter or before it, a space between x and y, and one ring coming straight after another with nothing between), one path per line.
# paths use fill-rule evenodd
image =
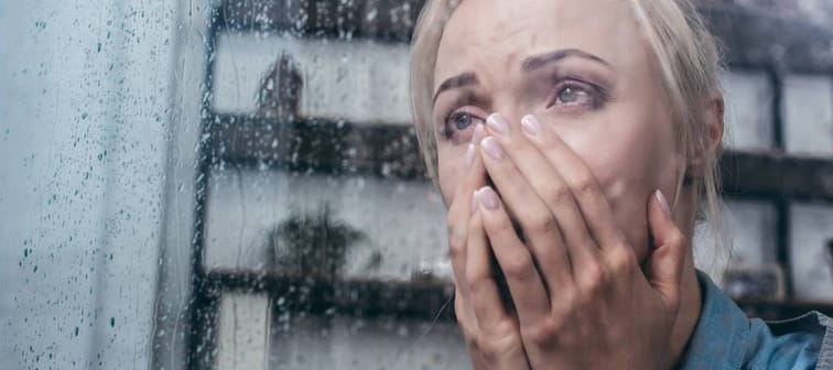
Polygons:
M214 161L301 173L425 178L410 126L219 115L210 127Z

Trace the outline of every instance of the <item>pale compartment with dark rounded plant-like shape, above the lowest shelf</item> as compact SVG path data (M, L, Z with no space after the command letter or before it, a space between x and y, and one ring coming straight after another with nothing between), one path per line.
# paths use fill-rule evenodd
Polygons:
M429 184L232 168L210 182L208 269L300 274L298 261L309 244L339 241L344 276L407 281L436 265L437 278L450 278L442 263L444 206ZM324 232L336 235L318 238ZM310 264L326 262L309 258Z

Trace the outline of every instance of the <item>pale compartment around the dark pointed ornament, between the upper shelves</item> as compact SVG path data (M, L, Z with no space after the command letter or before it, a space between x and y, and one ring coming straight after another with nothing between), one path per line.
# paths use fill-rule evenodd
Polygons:
M404 44L230 33L220 35L217 45L213 78L214 109L218 112L257 111L259 89L279 57L290 55L303 79L301 116L411 122ZM280 81L271 84L278 87Z

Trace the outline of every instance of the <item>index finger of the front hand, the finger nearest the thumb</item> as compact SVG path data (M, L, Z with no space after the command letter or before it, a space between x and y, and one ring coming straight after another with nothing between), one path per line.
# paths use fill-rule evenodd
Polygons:
M616 226L613 210L593 172L551 124L543 124L536 116L521 119L523 132L543 155L560 170L584 216L587 228L602 250L623 248L625 237Z

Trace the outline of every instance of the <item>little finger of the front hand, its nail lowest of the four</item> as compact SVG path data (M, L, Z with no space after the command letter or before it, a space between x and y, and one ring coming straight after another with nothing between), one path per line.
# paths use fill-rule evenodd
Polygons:
M522 327L539 323L550 314L550 298L532 255L518 239L497 193L485 186L477 191L477 198L480 205L477 215L483 219L488 242L506 276L518 319Z

